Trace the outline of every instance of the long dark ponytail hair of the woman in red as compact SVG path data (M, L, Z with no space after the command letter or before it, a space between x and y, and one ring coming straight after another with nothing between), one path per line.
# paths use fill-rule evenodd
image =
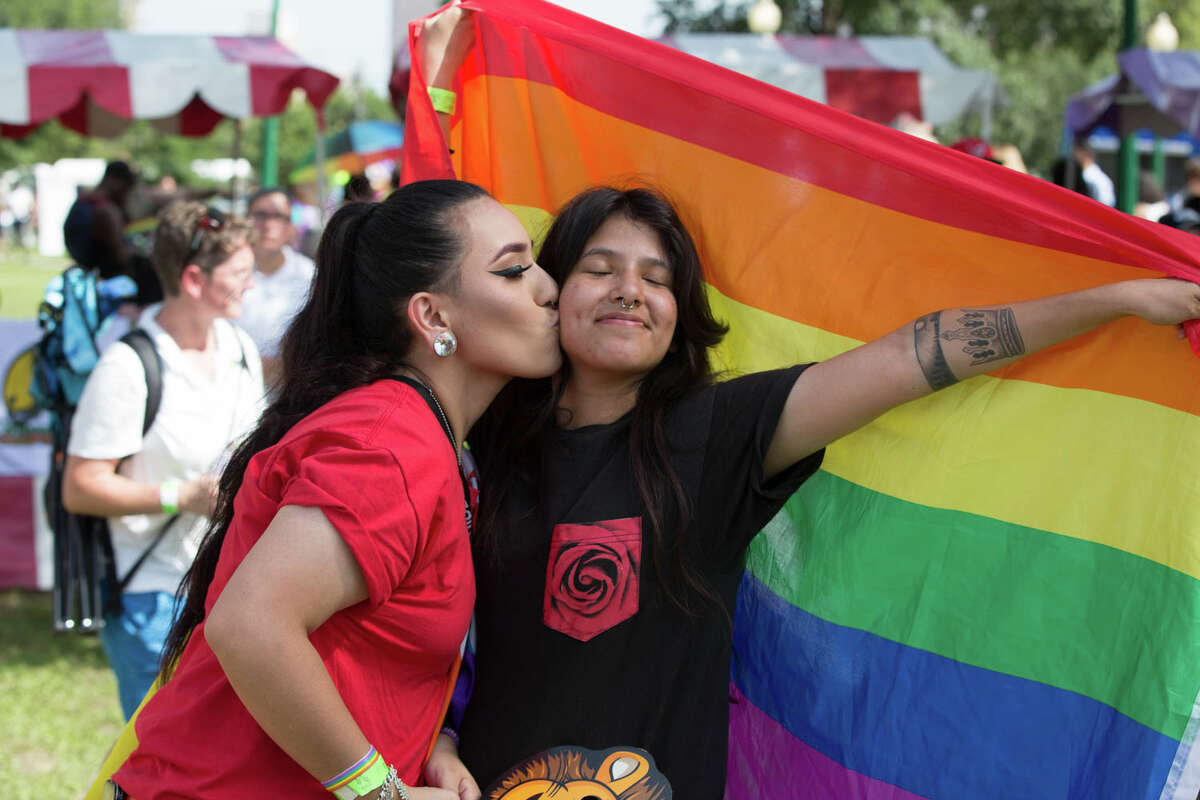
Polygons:
M170 628L161 672L169 678L192 631L204 620L233 500L256 453L280 441L305 416L342 392L396 372L413 335L404 321L418 291L446 290L466 253L460 207L487 192L462 181L420 181L383 203L343 206L325 227L308 301L282 343L276 399L221 474L216 510L199 553L180 584L186 597Z

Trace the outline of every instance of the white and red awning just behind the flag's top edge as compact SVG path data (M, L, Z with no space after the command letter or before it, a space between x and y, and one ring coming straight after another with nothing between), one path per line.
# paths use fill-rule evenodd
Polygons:
M907 112L941 125L986 114L1001 90L986 70L962 70L919 36L674 34L660 42L802 97L888 124Z

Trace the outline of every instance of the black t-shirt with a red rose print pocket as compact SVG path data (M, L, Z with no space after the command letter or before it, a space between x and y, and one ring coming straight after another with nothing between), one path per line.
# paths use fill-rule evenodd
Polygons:
M480 787L548 747L624 745L654 756L676 798L724 795L730 620L745 549L823 455L763 480L803 369L721 383L666 413L691 505L682 548L724 610L692 593L689 616L665 593L660 572L676 587L678 572L671 555L655 564L629 417L556 431L545 485L518 481L500 510L499 557L475 557L478 674L460 752ZM476 456L485 475L506 468ZM679 543L670 528L667 542Z

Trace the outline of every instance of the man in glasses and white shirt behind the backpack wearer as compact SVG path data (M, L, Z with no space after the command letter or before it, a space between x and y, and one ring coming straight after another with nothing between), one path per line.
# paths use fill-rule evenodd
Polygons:
M308 297L313 264L292 248L292 198L282 188L262 188L251 196L247 216L254 235L254 285L242 297L239 324L250 333L263 359L263 379L270 387L280 378L280 341Z

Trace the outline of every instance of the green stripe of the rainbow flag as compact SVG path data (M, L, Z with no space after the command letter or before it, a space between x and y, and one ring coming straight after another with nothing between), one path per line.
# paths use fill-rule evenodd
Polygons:
M1172 739L1200 686L1200 581L820 471L748 567L822 619L1086 694Z

